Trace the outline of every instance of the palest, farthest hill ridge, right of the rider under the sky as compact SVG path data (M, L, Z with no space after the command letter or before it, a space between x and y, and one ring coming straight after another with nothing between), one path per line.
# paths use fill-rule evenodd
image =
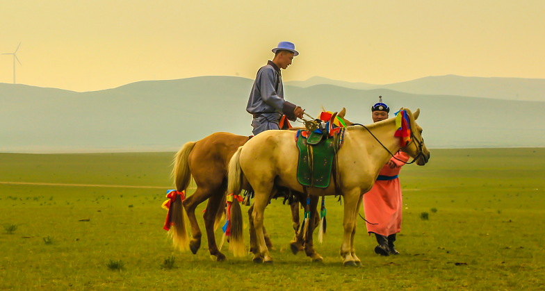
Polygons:
M352 89L390 89L405 93L456 95L516 101L545 101L545 79L540 78L481 78L456 75L429 76L412 81L386 85L349 83L312 77L307 81L286 82L301 88L312 85L336 85Z

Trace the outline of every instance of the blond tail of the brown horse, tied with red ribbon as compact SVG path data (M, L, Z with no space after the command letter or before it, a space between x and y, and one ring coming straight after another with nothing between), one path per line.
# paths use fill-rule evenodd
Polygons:
M188 158L191 150L195 147L196 142L187 142L184 147L176 153L174 156L174 168L172 169L172 177L174 178L174 185L179 192L186 192L191 181L191 171L189 169ZM179 247L180 250L185 251L189 246L188 226L186 222L186 211L182 205L181 196L174 199L174 203L171 209L172 213L172 226L170 227L169 234L172 236L172 243L175 247Z

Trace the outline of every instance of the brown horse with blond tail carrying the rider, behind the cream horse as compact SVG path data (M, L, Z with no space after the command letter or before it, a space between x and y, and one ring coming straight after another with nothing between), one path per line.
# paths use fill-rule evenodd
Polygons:
M345 124L352 124L348 120L344 119L345 108L339 113L339 117L343 119ZM291 131L291 133L294 133ZM247 136L234 135L232 133L213 133L202 140L197 142L187 142L178 151L174 157L174 169L172 169L172 176L174 177L174 185L178 191L186 191L191 176L197 185L195 193L187 197L184 202L181 199L175 199L172 204L172 222L174 223L171 228L171 234L173 243L181 250L190 248L193 253L197 253L200 248L202 233L195 217L195 208L209 199L206 209L204 211L204 227L206 228L206 235L208 238L209 251L212 256L216 257L216 260L225 260L225 255L218 250L218 245L215 242L214 231L220 223L222 215L225 213L225 200L227 190L227 165L231 156L236 152L238 147L243 146L248 141ZM236 199L235 199L236 200ZM306 203L305 199L299 199L302 203ZM314 200L314 199L313 199ZM317 203L317 199L316 199ZM235 202L238 206L238 201ZM183 208L181 206L184 206ZM302 232L301 235L297 235L299 228L299 210L298 203L292 203L292 217L293 228L296 233L296 238L292 242L292 250L295 253L295 249L302 249ZM240 209L240 206L238 206ZM191 232L193 239L189 242L189 238L186 230L186 223L184 222L184 213L186 211L187 217L190 222ZM250 208L252 210L252 208ZM314 209L316 211L316 207ZM240 213L240 211L238 211ZM239 214L241 215L241 213ZM237 224L238 233L241 233L242 223ZM232 228L236 231L236 227ZM252 224L250 223L250 231L252 232ZM231 244L234 243L234 235L231 233ZM251 238L254 235L251 233ZM267 240L267 244L271 246L270 240ZM294 249L295 247L295 249ZM243 249L243 248L242 248Z

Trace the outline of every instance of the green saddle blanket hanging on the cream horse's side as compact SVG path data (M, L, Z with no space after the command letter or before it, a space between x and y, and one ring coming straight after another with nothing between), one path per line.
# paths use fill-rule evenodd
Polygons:
M341 147L343 133L344 130L333 138L320 137L315 133L304 138L302 132L298 133L297 179L301 185L316 188L327 188L330 185L335 153Z

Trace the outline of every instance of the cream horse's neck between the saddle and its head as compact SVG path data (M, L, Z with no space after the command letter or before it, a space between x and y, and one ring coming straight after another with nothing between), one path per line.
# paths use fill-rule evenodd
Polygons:
M367 128L390 153L396 154L399 151L399 138L393 136L396 133L396 119L387 119L384 122L371 124ZM369 162L375 167L374 172L380 172L382 167L390 160L390 153L365 128L357 126L354 129L354 131L350 132L350 140L357 142L367 150Z

